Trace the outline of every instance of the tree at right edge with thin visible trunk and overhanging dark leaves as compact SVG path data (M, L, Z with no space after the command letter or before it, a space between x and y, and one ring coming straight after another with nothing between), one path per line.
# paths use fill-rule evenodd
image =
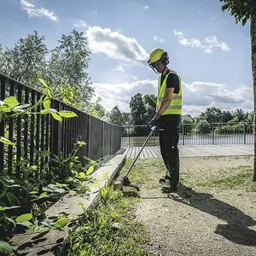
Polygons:
M254 160L253 160L253 182L256 181L256 1L255 0L219 0L224 2L222 10L230 11L234 16L236 24L241 22L244 26L248 20L251 21L251 52L252 52L252 71L253 71L253 137L254 137Z

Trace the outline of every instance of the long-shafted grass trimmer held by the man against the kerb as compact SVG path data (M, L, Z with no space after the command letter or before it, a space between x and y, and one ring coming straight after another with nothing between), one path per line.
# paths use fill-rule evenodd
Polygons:
M125 173L125 176L122 177L122 179L119 182L115 182L113 183L113 189L119 189L119 190L123 190L123 187L132 187L137 189L137 191L139 191L139 187L135 184L131 184L131 181L129 180L129 173L131 172L131 168L135 165L139 155L142 153L143 148L145 147L145 145L148 143L148 139L152 136L153 132L156 130L156 126L153 126L152 128L150 128L150 133L148 134L148 137L146 138L146 141L143 143L143 147L141 148L141 150L139 151L139 153L137 154L136 158L132 161L130 168L128 169L128 171Z

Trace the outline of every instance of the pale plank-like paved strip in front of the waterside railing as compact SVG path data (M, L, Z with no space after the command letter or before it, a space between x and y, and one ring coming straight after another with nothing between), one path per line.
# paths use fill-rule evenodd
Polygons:
M220 155L252 155L253 145L207 145L179 146L180 157L220 156ZM127 149L127 158L134 159L141 148ZM139 159L160 158L160 147L145 147Z

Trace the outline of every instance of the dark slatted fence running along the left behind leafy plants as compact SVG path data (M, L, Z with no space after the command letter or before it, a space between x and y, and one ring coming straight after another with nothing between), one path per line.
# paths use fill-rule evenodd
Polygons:
M8 96L16 96L21 104L34 105L42 96L38 90L33 90L1 73L0 83L1 101ZM32 112L38 113L42 108L39 105ZM30 165L38 166L38 170L42 170L44 163L49 161L49 155L40 152L49 151L59 155L61 151L67 156L79 136L86 143L79 149L80 160L83 160L83 156L97 160L119 150L122 126L108 124L63 102L54 101L51 108L73 111L78 117L62 119L62 122L59 122L48 113L2 119L0 137L8 137L15 143L15 147L0 143L0 173L4 168L9 175L15 172L16 177L20 177L21 160L27 160Z

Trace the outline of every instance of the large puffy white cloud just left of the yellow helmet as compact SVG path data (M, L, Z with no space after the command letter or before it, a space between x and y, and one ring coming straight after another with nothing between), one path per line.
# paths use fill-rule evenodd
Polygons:
M147 65L148 53L135 38L128 38L110 28L89 26L85 36L93 54L108 55L109 58Z

